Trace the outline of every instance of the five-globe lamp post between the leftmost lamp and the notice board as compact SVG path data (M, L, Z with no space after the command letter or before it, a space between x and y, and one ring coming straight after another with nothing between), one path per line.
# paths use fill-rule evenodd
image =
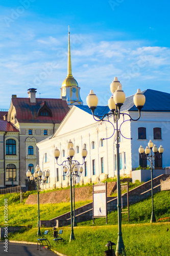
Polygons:
M79 175L77 175L77 172L78 172L77 165L84 164L85 158L87 156L87 150L85 148L83 148L83 150L82 150L83 163L80 164L77 160L72 160L72 158L75 155L75 150L73 148L73 143L71 142L71 140L69 140L69 142L67 144L67 149L68 149L68 158L67 158L67 160L63 161L61 164L58 163L60 151L58 150L57 147L55 148L54 156L57 160L57 164L64 166L65 176L70 178L70 216L71 216L71 234L70 234L70 239L69 239L69 242L70 242L75 239L74 230L73 230L73 226L74 226L73 225L73 214L72 214L72 177L73 176L80 177ZM83 167L81 166L79 170L80 170L80 175L81 175L83 172ZM74 193L74 202L75 202L75 193ZM74 203L74 212L75 212L75 203ZM74 216L75 216L75 213L74 213Z

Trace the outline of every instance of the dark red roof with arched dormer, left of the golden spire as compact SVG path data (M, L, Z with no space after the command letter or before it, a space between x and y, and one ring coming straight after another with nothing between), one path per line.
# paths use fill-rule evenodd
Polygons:
M30 103L30 98L12 98L18 122L61 123L69 111L66 100L36 98L36 103ZM41 108L50 111L52 116L38 116Z

